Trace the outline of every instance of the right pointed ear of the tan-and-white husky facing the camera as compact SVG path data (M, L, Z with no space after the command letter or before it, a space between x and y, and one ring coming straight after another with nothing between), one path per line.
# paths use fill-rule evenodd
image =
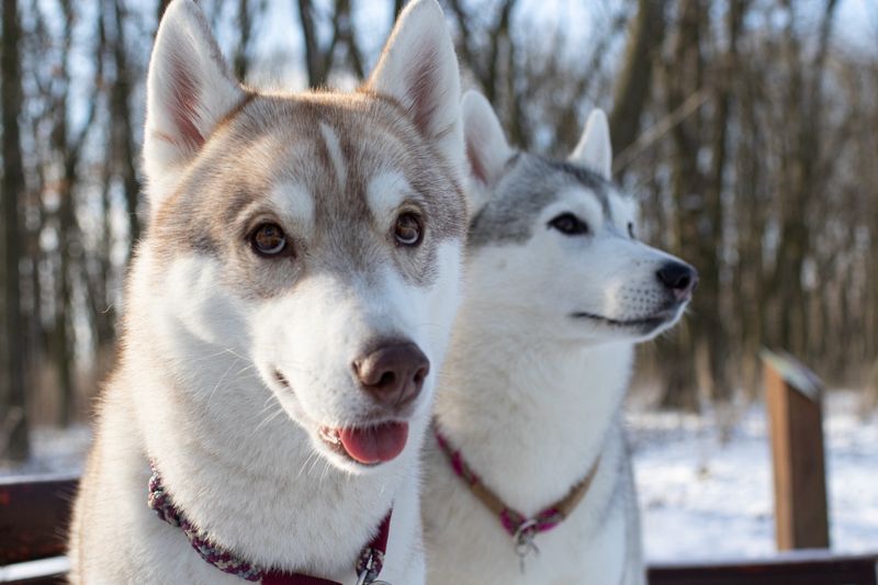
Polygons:
M414 0L403 10L367 89L398 101L423 135L462 175L460 72L436 0Z

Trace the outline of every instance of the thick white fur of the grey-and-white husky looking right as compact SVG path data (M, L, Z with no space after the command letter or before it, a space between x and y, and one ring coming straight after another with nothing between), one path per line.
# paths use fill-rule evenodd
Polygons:
M463 111L466 144L476 145L468 150L471 161L479 157L486 176L498 177L509 147L496 120L474 117L494 117L493 111L471 97ZM610 153L606 119L593 115L572 158L608 176ZM624 333L570 313L637 318L650 296L624 299L656 286L656 268L672 257L628 238L637 211L630 200L612 195L611 207L616 225L601 226L596 198L573 188L534 218L527 243L486 245L469 256L436 424L482 481L528 516L564 497L600 462L572 516L537 537L540 553L526 559L522 573L499 519L428 440L423 509L430 584L645 582L621 405L633 346L656 331ZM587 241L545 228L566 211L593 226Z

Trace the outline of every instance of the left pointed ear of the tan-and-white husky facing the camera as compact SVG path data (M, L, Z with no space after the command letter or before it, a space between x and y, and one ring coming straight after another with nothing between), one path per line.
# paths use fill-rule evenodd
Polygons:
M193 0L171 2L156 36L147 77L144 167L154 210L182 167L243 98L201 9Z

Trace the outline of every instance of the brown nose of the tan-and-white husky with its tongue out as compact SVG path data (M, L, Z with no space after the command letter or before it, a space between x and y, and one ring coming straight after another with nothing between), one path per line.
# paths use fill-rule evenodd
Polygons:
M362 389L387 406L415 400L430 372L427 356L410 341L381 346L353 360L352 367Z

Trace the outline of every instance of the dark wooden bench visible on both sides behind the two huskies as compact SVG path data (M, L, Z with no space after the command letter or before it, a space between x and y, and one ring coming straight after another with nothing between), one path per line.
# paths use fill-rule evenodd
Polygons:
M69 569L64 539L76 486L77 479L69 476L0 479L0 584L64 583ZM653 564L649 581L650 585L878 585L878 552L799 551L758 561Z

